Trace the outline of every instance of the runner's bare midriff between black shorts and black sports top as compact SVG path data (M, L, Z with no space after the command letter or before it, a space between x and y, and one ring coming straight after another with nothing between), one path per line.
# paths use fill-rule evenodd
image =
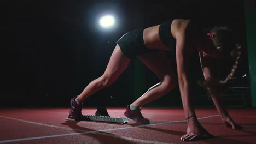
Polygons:
M159 26L160 25L144 29L143 40L148 49L160 49L167 51L168 49L164 43L162 43L159 35Z

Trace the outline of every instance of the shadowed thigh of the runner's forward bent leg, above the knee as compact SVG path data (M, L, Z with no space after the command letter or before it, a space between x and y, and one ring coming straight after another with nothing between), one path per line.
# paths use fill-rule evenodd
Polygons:
M166 75L170 75L173 78L176 77L171 61L163 51L145 53L138 56L138 58L152 70L160 80L164 79Z

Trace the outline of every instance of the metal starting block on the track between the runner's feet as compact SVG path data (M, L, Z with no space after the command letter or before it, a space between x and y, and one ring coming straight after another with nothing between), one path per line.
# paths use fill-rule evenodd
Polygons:
M75 121L75 119L71 115L69 115L68 118L66 118L66 120ZM97 107L95 116L83 115L82 121L97 121L97 122L122 123L122 124L129 123L128 118L125 118L125 117L110 117L106 107Z

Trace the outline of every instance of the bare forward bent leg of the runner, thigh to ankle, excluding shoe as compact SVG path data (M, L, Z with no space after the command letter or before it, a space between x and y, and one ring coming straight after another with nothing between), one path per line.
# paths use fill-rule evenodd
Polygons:
M150 69L160 82L151 87L146 93L132 103L135 107L142 107L150 101L158 99L170 92L177 85L177 77L173 65L163 51L146 53L138 58Z

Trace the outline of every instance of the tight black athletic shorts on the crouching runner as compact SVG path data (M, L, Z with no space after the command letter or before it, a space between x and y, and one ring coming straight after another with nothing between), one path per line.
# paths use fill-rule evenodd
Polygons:
M128 58L135 58L148 52L156 52L158 50L148 49L143 40L143 29L135 29L123 35L117 44L120 46L123 54Z

